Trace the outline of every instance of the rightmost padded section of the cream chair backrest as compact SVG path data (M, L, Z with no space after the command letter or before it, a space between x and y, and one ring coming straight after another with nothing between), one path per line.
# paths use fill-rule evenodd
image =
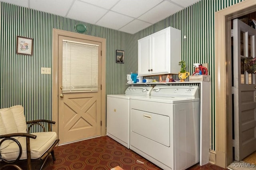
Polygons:
M27 123L23 107L17 105L10 107L10 109L12 111L18 133L27 133Z

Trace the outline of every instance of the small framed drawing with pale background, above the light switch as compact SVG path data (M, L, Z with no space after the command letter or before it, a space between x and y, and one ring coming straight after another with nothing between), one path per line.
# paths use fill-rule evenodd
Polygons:
M17 36L16 54L33 55L33 39Z

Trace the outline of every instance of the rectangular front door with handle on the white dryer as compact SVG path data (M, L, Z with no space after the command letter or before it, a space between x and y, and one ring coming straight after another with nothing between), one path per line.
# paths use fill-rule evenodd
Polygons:
M170 147L170 117L131 110L131 131Z

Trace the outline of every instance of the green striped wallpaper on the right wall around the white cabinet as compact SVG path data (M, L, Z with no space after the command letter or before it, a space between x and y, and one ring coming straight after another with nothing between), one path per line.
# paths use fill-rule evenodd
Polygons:
M168 18L134 34L133 53L137 54L137 40L166 27L181 30L182 60L187 71L194 72L193 63L209 63L212 86L211 149L215 150L215 91L214 91L214 13L243 0L201 0Z

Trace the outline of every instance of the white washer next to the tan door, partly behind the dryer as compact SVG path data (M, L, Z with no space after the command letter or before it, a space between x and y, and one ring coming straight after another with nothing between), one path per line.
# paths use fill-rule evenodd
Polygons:
M153 87L128 87L125 94L107 95L107 135L130 148L130 98L149 96Z

